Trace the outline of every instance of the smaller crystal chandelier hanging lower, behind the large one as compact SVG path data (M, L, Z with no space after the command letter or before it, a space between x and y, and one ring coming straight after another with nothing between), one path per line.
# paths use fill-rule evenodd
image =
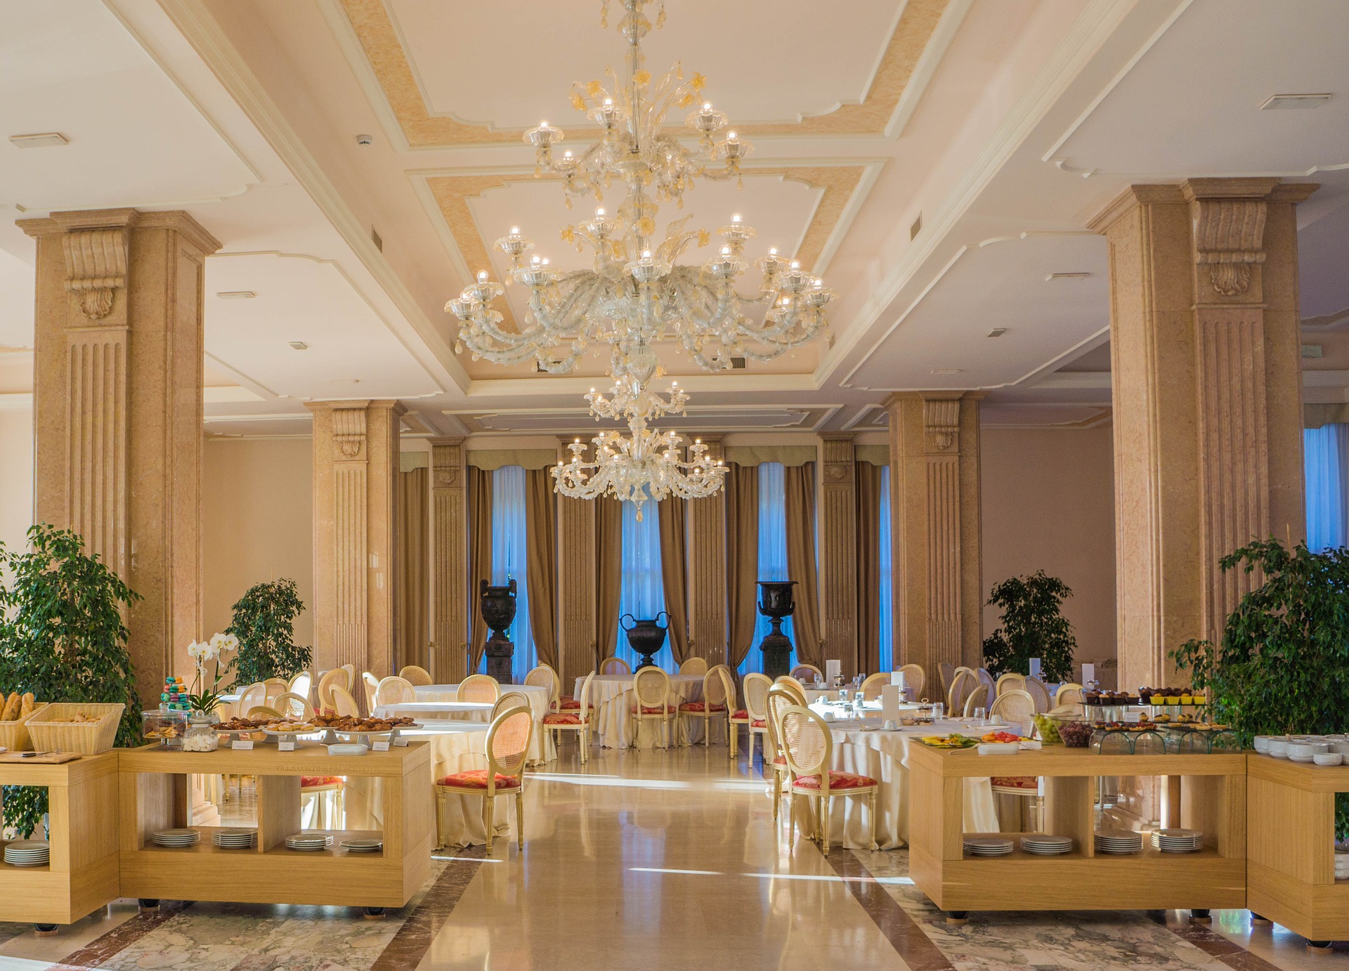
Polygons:
M615 349L615 360L619 352ZM679 382L670 382L668 398L661 398L650 390L652 382L664 374L656 352L649 345L641 345L623 355L622 367L615 367L614 387L610 398L590 390L590 402L595 419L614 418L626 421L631 437L621 432L600 432L591 438L595 446L595 461L585 461L585 445L577 438L568 448L572 452L569 463L557 460L553 480L557 491L573 499L598 499L611 495L619 502L637 506L637 518L642 518L642 503L660 502L669 496L679 499L701 499L716 492L726 479L726 465L720 459L711 460L707 445L696 438L688 449L688 459L680 457L684 444L677 432L656 432L649 422L666 414L684 414L688 395Z

